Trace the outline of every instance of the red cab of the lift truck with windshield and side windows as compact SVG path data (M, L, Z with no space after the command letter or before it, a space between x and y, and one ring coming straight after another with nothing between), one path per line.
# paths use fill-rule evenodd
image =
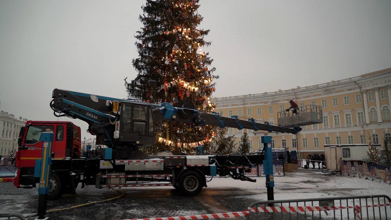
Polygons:
M27 121L18 138L15 166L18 168L14 185L18 188L32 188L38 182L34 178L35 160L42 157L41 133L46 129L54 133L52 158L79 158L81 153L80 128L69 121Z

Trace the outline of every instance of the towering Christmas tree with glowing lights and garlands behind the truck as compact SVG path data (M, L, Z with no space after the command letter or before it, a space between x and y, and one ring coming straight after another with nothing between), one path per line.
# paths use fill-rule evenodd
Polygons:
M138 58L133 59L137 76L125 85L129 98L148 103L190 101L201 111L213 111L215 90L213 59L203 49L209 30L199 28L202 16L198 0L147 0L139 20L143 27L136 33ZM175 106L175 104L174 104ZM146 153L162 150L191 151L213 138L211 126L155 121L156 144Z

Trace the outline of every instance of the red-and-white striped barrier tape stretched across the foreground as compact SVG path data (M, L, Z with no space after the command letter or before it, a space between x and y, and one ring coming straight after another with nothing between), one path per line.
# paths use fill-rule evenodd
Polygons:
M391 202L391 201L389 201ZM229 213L217 213L217 214L205 214L205 215L188 215L188 216L175 216L175 217L162 217L162 218L131 218L131 219L120 219L120 220L195 220L195 219L209 219L209 218L229 218L248 216L250 212L262 212L262 213L296 213L296 212L314 212L314 211L330 211L337 209L354 209L356 219L360 218L361 208L363 207L380 207L380 206L391 206L391 203L377 204L369 206L261 206L251 207L247 211L229 212Z

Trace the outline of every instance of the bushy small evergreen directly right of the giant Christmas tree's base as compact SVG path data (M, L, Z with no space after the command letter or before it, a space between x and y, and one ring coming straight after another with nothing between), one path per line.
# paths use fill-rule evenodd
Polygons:
M233 153L235 149L235 136L227 135L228 128L219 128L217 129L217 135L213 139L212 144L210 144L209 152L217 154L229 154Z

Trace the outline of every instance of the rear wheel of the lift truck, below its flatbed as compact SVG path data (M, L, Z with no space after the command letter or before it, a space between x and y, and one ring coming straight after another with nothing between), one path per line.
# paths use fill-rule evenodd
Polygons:
M202 187L202 178L196 171L187 171L179 177L178 188L186 196L197 195Z

